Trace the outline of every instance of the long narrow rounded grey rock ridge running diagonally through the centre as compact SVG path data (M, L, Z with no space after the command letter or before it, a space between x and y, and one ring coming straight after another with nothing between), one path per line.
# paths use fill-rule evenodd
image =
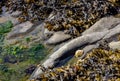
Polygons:
M85 44L91 44L98 40L100 40L103 36L105 36L108 33L108 31L104 32L96 32L89 35L81 36L78 38L75 38L62 46L60 49L58 49L56 52L54 52L49 58L52 60L59 59L60 57L68 54L70 51L75 51L77 48L84 46ZM48 60L49 60L48 58ZM45 67L51 66L51 64L46 60L43 65ZM53 66L53 65L52 65Z

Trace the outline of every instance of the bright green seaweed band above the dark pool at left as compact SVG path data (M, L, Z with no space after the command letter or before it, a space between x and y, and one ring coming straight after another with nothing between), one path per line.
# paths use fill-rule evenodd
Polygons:
M4 46L2 55L17 59L18 62L26 59L36 62L38 59L42 60L45 57L45 48L42 44L35 44L30 48L23 45Z

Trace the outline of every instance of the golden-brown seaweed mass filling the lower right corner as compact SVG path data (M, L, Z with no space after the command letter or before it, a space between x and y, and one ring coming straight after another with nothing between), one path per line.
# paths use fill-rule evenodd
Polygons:
M35 81L120 81L120 50L94 49L76 64L47 69Z

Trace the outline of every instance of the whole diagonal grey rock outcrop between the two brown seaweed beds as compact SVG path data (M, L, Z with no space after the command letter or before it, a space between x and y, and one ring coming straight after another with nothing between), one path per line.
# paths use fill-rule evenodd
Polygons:
M109 22L109 23L108 23ZM69 57L75 54L75 51L83 50L83 54L75 54L79 60L84 60L88 53L95 48L104 50L119 50L119 35L120 35L120 19L114 17L102 18L96 22L92 27L82 33L82 36L72 39L64 44L57 51L55 51L43 63L45 68L53 68L59 65L64 57ZM116 45L116 46L115 46ZM80 67L80 66L79 66ZM41 67L38 67L31 76L36 78L37 75L42 73Z

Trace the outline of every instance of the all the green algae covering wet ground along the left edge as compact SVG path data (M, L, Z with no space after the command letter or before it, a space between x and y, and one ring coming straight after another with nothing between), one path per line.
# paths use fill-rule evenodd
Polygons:
M25 70L31 65L36 67L45 58L47 49L41 43L31 47L6 45L4 39L12 27L11 21L0 24L0 81L26 81L30 73Z

